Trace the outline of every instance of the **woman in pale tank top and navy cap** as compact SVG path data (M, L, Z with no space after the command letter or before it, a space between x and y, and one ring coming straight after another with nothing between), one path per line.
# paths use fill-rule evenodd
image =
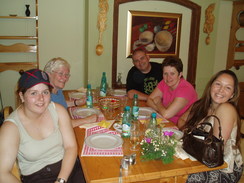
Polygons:
M77 144L67 110L50 103L48 75L38 69L22 74L22 104L0 129L0 182L18 182L11 174L17 158L22 182L70 182ZM45 176L43 176L45 175Z

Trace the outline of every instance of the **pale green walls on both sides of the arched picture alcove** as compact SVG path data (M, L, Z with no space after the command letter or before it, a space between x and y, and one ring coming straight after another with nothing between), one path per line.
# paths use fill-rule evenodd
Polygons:
M7 0L0 0L1 6L4 6L5 1ZM65 89L85 86L87 81L93 88L97 87L103 71L107 72L108 83L111 85L113 0L109 0L107 29L103 34L104 52L101 56L95 53L98 43L96 27L98 2L98 0L39 0L40 68L43 68L52 57L61 56L67 59L72 67L72 76ZM197 91L201 95L210 76L224 69L226 65L232 1L193 0L193 2L202 7L196 76ZM204 12L211 3L216 3L214 10L216 20L214 31L210 35L211 43L206 45L206 34L203 33ZM233 70L243 81L243 67L239 71ZM18 73L14 71L0 73L0 90L5 106L14 106L13 93L18 77Z

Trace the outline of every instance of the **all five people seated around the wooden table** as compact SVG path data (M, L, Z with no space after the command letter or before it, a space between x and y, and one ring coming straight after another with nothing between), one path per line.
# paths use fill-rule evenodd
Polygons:
M190 174L187 182L238 182L243 161L237 109L240 90L235 73L216 73L198 99L194 87L182 76L180 58L169 56L162 64L154 63L144 50L138 49L133 52L132 62L134 66L126 80L128 98L138 94L139 100L146 101L180 130L201 123L211 114L220 119L228 167ZM0 183L19 181L11 173L16 158L24 183L85 182L73 127L97 122L97 116L70 119L67 107L83 105L86 99L65 100L62 90L70 77L66 60L54 58L44 71L28 70L18 81L17 93L22 103L0 129ZM218 136L217 121L211 123Z

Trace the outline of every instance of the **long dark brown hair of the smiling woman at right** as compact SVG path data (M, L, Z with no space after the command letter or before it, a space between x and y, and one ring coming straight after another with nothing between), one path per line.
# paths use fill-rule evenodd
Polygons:
M211 94L210 94L211 86L212 86L213 82L222 74L228 74L234 80L233 97L231 99L229 99L228 102L235 107L235 109L238 113L237 137L236 137L236 142L238 144L239 140L240 140L240 124L241 124L241 121L240 121L240 115L239 115L237 103L238 103L238 99L240 96L240 88L239 88L238 79L237 79L235 73L231 70L219 71L210 79L210 81L208 82L208 84L207 84L207 86L203 92L202 97L193 104L191 111L190 111L190 114L187 118L187 122L186 122L185 126L183 126L183 129L187 128L188 126L194 126L194 125L200 123L208 115L208 111L209 111L209 108L210 108L211 103L212 103Z

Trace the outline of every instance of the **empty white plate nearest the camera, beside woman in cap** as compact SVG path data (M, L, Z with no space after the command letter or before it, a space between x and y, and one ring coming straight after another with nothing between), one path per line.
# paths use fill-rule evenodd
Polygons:
M87 137L85 144L96 149L113 149L122 145L123 140L118 135L100 133Z

